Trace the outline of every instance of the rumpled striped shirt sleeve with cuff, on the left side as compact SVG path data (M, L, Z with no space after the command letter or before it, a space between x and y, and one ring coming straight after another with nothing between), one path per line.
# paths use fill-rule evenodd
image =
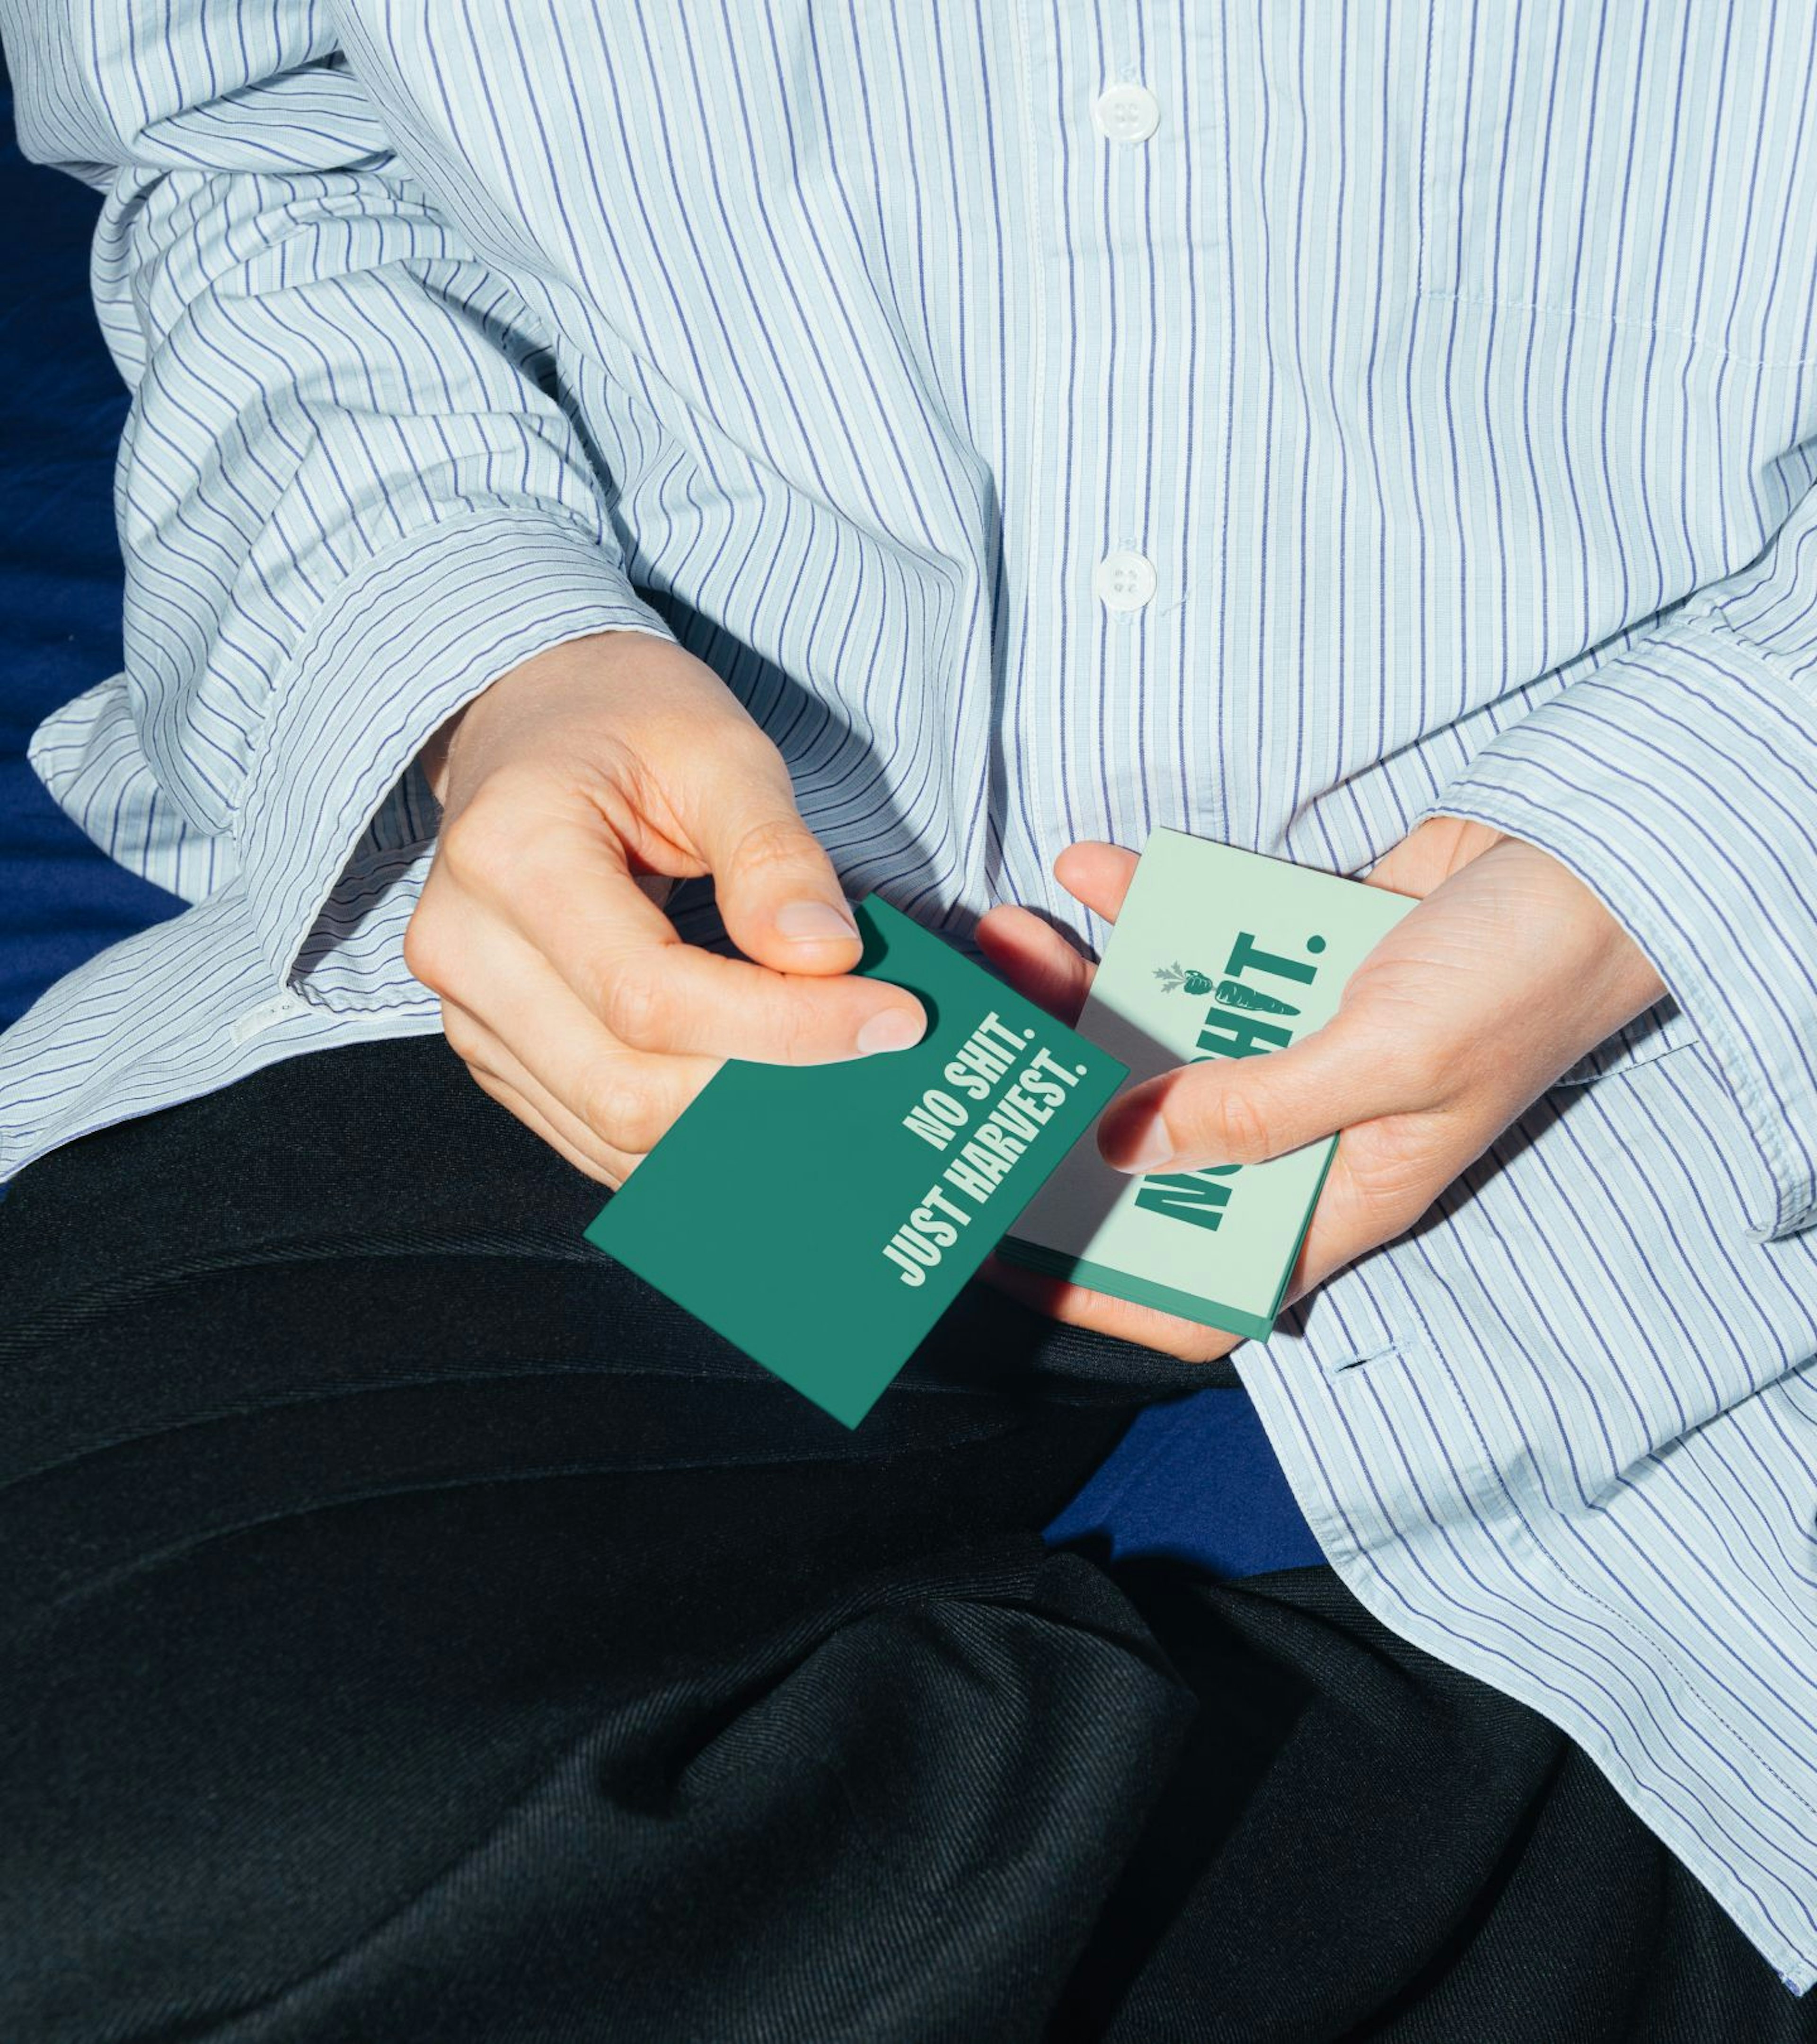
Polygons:
M413 760L583 634L666 636L527 305L392 155L323 8L0 0L29 155L96 184L131 390L125 670L33 744L61 805L272 989L423 997Z

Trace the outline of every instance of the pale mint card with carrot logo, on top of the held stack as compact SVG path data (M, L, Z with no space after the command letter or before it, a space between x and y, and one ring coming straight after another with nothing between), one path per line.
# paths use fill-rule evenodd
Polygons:
M1079 1032L1151 1079L1286 1049L1337 1014L1406 895L1157 830ZM1010 1263L1261 1339L1275 1322L1337 1139L1286 1157L1128 1177L1081 1143L997 1245Z

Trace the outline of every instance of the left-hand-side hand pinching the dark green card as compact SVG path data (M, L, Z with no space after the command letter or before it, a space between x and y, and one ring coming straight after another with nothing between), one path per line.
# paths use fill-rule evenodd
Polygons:
M405 965L474 1079L589 1177L621 1183L726 1057L816 1065L926 1030L912 993L850 977L858 928L783 756L668 640L525 660L421 764L441 836ZM652 899L652 875L703 873L744 959L683 944Z

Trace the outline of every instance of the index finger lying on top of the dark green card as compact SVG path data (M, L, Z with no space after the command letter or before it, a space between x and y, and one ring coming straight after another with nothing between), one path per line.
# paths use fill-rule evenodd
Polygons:
M476 809L478 801L462 822ZM437 856L450 858L456 883L472 885L480 852L462 854L462 840L450 838ZM550 961L587 1012L636 1051L822 1065L903 1051L928 1026L922 1004L885 981L768 971L683 944L597 824L548 820L515 842L509 885L501 887L493 867L476 891ZM429 979L441 991L452 981L452 973ZM462 985L472 985L466 959L456 995Z

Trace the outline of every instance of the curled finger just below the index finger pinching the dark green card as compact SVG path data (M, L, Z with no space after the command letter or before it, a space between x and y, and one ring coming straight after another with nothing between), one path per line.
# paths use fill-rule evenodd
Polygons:
M454 1053L533 1098L578 1147L656 1149L719 1069L711 1057L627 1051L540 959L497 975L486 1014L444 997Z

